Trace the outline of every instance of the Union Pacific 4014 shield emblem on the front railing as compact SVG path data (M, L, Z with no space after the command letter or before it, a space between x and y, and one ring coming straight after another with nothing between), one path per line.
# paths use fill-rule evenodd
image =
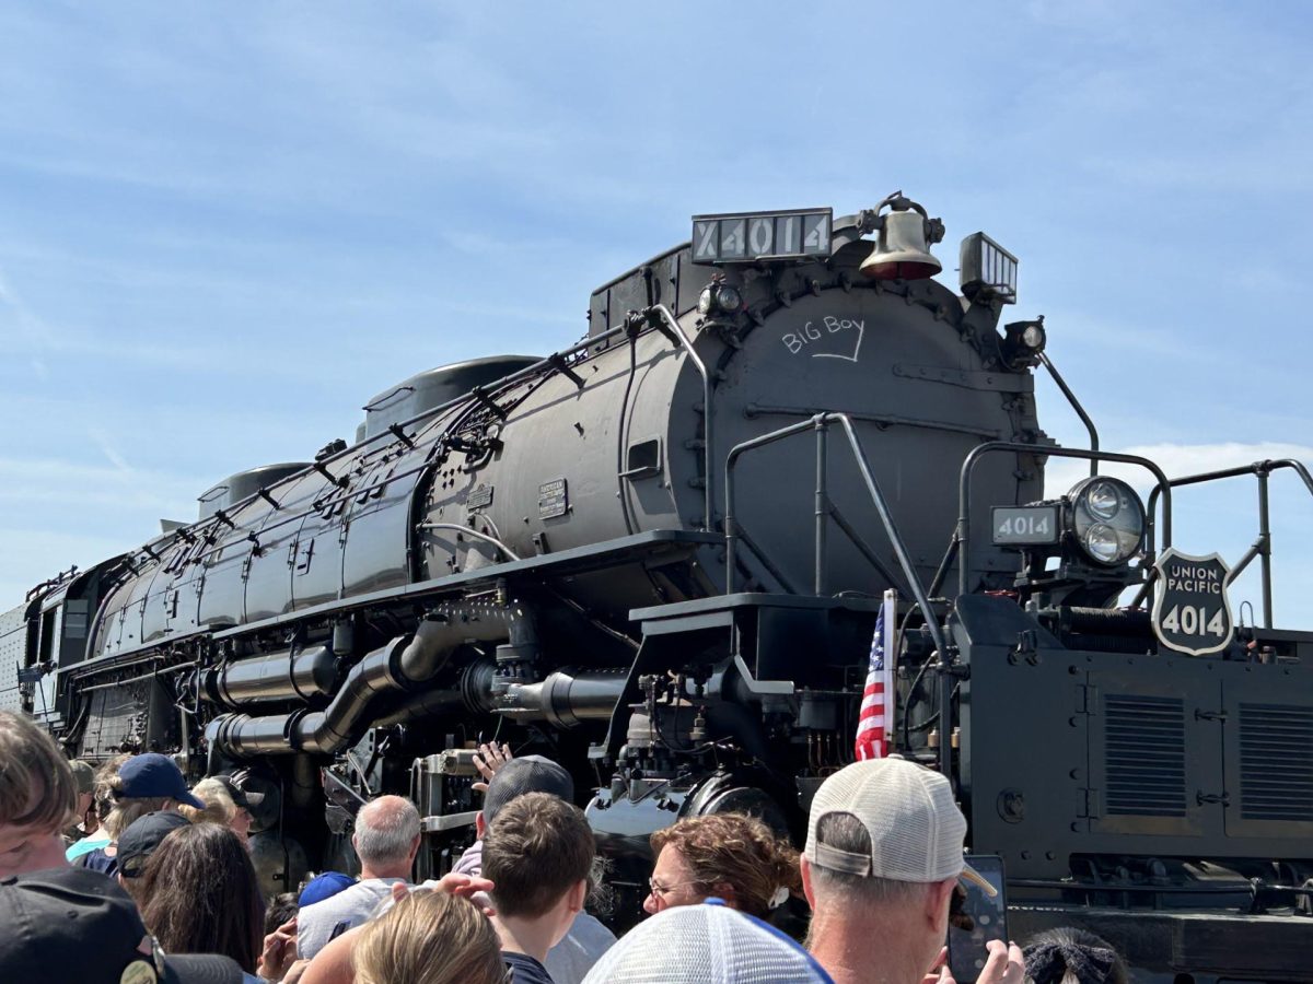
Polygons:
M1226 562L1217 554L1191 556L1169 547L1154 567L1153 631L1158 642L1190 656L1225 649L1234 626Z

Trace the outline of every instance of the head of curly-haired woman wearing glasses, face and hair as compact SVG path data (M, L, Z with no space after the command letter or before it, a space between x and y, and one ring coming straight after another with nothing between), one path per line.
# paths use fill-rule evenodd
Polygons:
M676 905L723 899L726 905L769 918L789 895L802 891L798 853L760 820L713 813L680 820L651 836L656 866L643 909L655 914Z

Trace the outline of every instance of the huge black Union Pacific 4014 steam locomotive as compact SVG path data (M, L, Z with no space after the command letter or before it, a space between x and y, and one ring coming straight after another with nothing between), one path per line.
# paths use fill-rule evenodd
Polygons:
M893 749L940 769L1007 865L1012 935L1079 924L1145 980L1299 980L1313 888L1313 634L1233 623L1234 572L1171 546L1153 462L1058 447L1043 319L983 234L901 193L695 216L546 358L420 373L355 441L230 476L196 522L0 617L0 706L102 761L175 753L265 792L270 888L349 869L356 807L471 837L471 747L593 790L616 883L647 836L743 810L798 834L852 757L897 592ZM1044 499L1056 455L1090 478ZM1145 502L1099 474L1146 470ZM1263 500L1266 502L1266 499ZM1262 510L1255 548L1268 585ZM1186 975L1186 976L1179 976Z

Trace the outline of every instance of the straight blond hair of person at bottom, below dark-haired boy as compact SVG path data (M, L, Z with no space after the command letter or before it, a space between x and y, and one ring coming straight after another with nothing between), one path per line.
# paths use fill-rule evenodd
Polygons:
M366 922L352 950L356 984L502 984L506 964L492 924L475 905L418 888Z

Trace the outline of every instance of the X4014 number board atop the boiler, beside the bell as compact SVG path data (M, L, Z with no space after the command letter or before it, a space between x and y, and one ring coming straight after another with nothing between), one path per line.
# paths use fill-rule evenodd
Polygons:
M830 256L834 209L693 216L695 264L744 264Z

